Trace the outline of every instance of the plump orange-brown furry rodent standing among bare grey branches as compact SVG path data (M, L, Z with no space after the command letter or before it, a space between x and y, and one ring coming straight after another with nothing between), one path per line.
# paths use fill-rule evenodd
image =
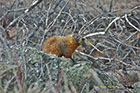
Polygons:
M42 51L72 59L72 54L80 45L79 40L80 36L77 34L53 36L43 42Z

